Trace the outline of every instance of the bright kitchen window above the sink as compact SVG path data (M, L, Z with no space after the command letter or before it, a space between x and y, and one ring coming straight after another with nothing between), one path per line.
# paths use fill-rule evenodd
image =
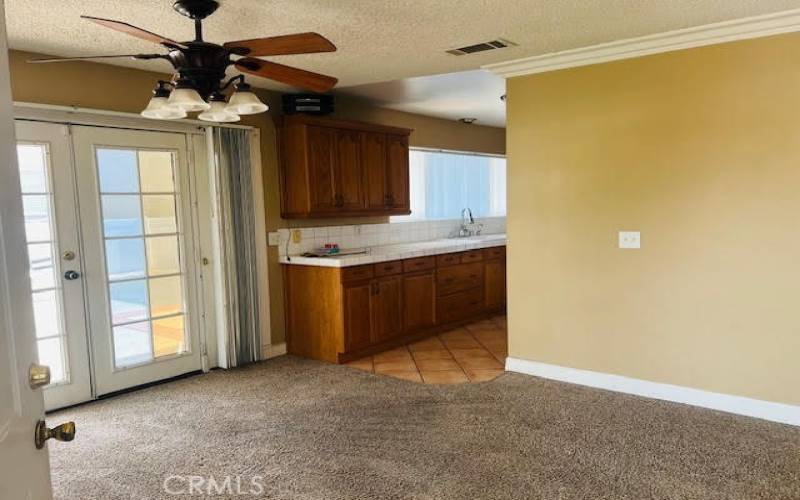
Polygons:
M411 215L392 222L458 219L465 207L475 217L506 215L503 156L412 149L409 177Z

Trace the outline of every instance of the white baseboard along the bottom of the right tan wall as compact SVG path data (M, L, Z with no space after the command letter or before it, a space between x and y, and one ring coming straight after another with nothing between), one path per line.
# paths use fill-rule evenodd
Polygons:
M800 406L761 401L659 382L649 382L621 375L566 368L518 358L507 358L506 370L800 426Z

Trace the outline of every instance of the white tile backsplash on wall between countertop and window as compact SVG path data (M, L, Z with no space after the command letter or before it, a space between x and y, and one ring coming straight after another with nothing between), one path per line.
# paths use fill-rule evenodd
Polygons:
M505 217L486 217L475 219L483 224L482 234L506 232ZM419 222L390 222L386 224L359 224L352 226L326 226L278 229L279 252L281 256L299 255L328 243L336 243L339 248L375 247L398 243L414 243L458 236L461 219L434 220ZM300 231L300 243L290 241L291 231Z

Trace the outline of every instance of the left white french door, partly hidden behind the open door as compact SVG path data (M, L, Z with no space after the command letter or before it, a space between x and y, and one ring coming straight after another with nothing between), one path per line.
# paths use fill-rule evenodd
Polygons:
M16 134L36 347L51 374L45 407L61 408L92 395L69 130L17 121Z

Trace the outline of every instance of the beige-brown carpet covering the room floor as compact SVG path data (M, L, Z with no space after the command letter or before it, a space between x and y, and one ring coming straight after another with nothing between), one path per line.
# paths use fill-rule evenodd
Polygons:
M48 420L68 419L59 499L254 498L170 495L170 475L261 476L259 498L800 499L798 428L517 374L431 386L285 356Z

